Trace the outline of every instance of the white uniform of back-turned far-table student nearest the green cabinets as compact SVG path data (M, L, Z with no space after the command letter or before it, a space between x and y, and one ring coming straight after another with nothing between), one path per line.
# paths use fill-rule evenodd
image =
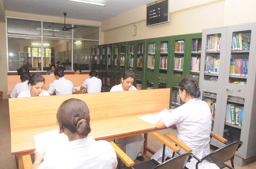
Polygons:
M101 92L101 80L97 77L85 79L82 84L84 88L87 88L87 93L100 93Z

